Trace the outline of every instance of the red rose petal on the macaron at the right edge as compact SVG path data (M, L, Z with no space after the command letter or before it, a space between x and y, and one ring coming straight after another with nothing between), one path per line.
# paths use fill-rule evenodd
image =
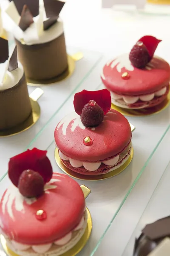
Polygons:
M155 38L152 35L145 35L140 38L139 41L142 41L142 43L146 46L150 55L150 59L153 57L153 54L156 51L158 44L161 42L161 40Z

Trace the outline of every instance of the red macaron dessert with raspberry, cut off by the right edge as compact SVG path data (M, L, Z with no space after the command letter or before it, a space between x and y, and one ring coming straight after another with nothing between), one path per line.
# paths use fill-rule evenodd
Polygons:
M140 109L159 105L167 98L170 66L154 55L161 40L144 36L123 54L105 64L101 79L110 90L112 103L122 108Z

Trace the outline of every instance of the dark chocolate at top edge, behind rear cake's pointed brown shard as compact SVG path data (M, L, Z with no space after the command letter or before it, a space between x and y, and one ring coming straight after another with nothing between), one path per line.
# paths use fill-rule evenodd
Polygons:
M30 9L30 12L33 17L39 15L39 0L9 0L14 1L14 4L19 12L20 16L23 11L23 6L26 4Z

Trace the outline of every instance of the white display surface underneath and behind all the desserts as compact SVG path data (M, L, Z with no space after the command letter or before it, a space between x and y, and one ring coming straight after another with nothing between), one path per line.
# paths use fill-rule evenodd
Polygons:
M36 125L23 134L0 139L0 176L7 170L8 158L27 147L47 149L54 170L60 172L54 160L54 128L65 114L74 110L74 93L83 89L102 88L99 77L102 66L108 59L123 52L129 52L140 37L151 34L162 39L156 54L170 62L170 33L165 29L169 24L169 17L128 15L124 12L102 10L99 0L70 0L65 5L61 16L65 23L67 45L74 46L77 52L82 51L81 49L88 49L82 51L85 59L77 62L76 71L68 80L57 86L42 87L45 92L39 99L42 115ZM100 59L100 54L89 52L89 50L102 52L102 59ZM97 65L96 62L98 62ZM33 87L29 87L30 93L33 90ZM55 116L52 118L54 113ZM79 184L89 186L92 191L87 198L87 206L93 218L91 239L79 253L80 256L132 256L130 253L133 239L139 234L136 231L139 232L147 222L169 214L163 208L158 216L150 211L150 215L147 215L149 218L142 218L141 225L133 234L170 160L170 131L168 130L170 107L157 115L128 117L128 120L136 127L132 139L134 158L130 166L122 174L108 180L79 181ZM126 198L127 192L130 191L141 171L143 171L142 176ZM169 179L166 181L168 182ZM8 186L8 182L6 177L0 183L0 195ZM158 206L161 203L166 205L165 194L167 192L164 186L162 186L163 192L164 197L157 198L159 201L157 210L161 208ZM124 199L126 201L122 204ZM96 252L92 253L110 224L110 229L101 244L96 248ZM130 243L127 246L129 239Z

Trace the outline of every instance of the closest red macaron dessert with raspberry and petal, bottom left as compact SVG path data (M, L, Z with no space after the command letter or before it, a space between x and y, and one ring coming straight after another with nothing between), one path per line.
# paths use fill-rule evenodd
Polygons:
M12 157L12 182L0 201L0 229L19 256L59 256L74 247L87 227L79 184L52 172L46 151L34 148Z

